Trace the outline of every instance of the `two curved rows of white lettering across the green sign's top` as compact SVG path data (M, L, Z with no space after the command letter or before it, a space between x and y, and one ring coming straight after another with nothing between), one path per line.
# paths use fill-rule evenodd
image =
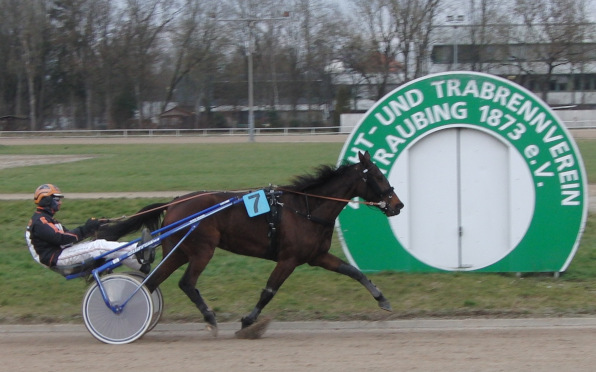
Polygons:
M526 147L524 155L529 161L532 173L542 178L557 176L562 205L581 204L581 185L576 186L579 172L575 169L577 164L572 147L560 133L560 128L530 97L494 82L479 82L475 79L467 82L460 79L438 80L430 85L434 95L425 96L420 89L410 89L385 102L374 115L378 126L372 127L367 133L358 133L350 149L348 161L357 162L358 152L376 149L373 159L381 170L387 173L397 154L407 145L408 140L415 138L420 131L442 125L445 121L465 122L470 110L478 110L478 124L492 128L509 141L520 141L529 131L538 134L543 144L550 145L548 153L551 159L537 164L533 158L540 153L540 146ZM441 102L452 97L461 97L462 101ZM470 97L486 101L487 104L469 107L465 99ZM425 106L425 101L432 104ZM377 143L378 137L374 136L378 128L392 128L384 136L384 143ZM372 137L377 138L377 142ZM542 181L537 185L542 186Z

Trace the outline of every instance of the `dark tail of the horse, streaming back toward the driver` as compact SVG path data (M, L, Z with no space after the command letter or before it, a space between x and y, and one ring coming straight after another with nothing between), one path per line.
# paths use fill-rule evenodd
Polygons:
M125 220L103 225L97 232L98 239L118 240L126 234L140 230L143 226L149 230L157 230L161 224L164 211L170 203L155 203L148 205L132 217Z

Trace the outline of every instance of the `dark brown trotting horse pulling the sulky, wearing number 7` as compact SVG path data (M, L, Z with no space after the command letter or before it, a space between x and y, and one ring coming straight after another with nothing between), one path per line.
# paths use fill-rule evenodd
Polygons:
M255 323L283 282L302 264L349 276L359 281L377 300L391 311L389 301L357 268L329 253L334 221L348 200L360 197L375 205L387 216L399 214L403 203L368 153L359 154L360 162L338 168L319 167L316 175L297 177L293 184L274 187L269 200L271 212L249 217L242 205L233 206L203 220L188 239L159 266L146 285L153 291L180 266L188 267L179 286L199 308L207 327L217 331L215 313L195 288L199 275L213 257L216 247L246 256L277 262L255 308L242 318L242 328ZM193 193L173 203L153 204L127 220L100 229L99 237L118 239L146 226L155 230L163 212L162 226L175 223L193 213L242 193ZM145 211L146 213L143 213ZM164 257L181 239L183 233L162 240Z

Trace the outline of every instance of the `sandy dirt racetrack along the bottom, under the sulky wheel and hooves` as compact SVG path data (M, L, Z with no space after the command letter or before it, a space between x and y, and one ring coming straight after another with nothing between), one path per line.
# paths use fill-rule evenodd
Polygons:
M165 324L127 345L81 325L0 326L3 371L594 371L596 319Z

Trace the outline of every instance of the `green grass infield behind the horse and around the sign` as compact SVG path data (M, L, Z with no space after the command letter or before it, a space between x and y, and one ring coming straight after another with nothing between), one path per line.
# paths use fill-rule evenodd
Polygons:
M580 140L590 183L596 183L596 141ZM342 144L200 144L0 146L0 155L84 155L74 163L0 170L0 193L27 193L55 183L66 194L58 218L70 228L88 217L115 217L163 199L69 200L73 192L246 189L286 184L320 164L335 164ZM24 244L32 201L2 201L0 322L80 322L87 284L67 281L37 265ZM399 217L396 217L399 218ZM553 216L556 218L556 216ZM371 247L374 249L374 247ZM333 253L342 256L335 239ZM273 263L218 250L199 278L198 288L219 321L248 313ZM163 321L202 321L178 289L182 271L162 284ZM456 316L596 315L596 217L590 215L567 272L552 274L377 273L369 278L392 302L380 310L353 280L319 268L299 267L263 315L277 320L383 320Z

